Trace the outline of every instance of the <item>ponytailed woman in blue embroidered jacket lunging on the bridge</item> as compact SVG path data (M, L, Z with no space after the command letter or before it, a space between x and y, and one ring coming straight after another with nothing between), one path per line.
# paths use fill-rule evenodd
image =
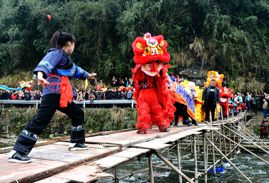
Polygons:
M56 110L67 114L71 119L71 138L68 150L86 150L89 148L83 144L85 141L84 112L72 101L76 92L69 78L95 79L96 74L89 74L74 64L68 56L68 54L72 54L75 44L76 38L69 33L55 32L52 36L47 55L34 70L38 82L44 86L41 105L37 114L20 133L13 150L9 154L8 162L31 162L27 155L32 150L42 130L48 126Z

